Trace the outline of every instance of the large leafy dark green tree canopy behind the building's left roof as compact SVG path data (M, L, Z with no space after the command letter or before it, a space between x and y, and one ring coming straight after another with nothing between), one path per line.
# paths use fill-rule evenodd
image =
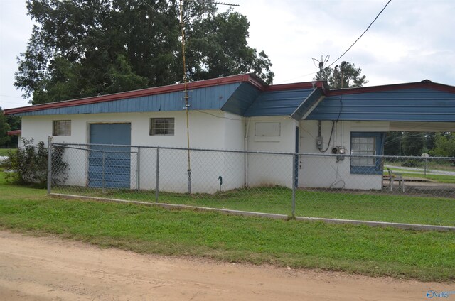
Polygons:
M254 72L272 83L267 55L247 45L250 23L213 1L183 1L188 80ZM176 0L27 0L36 21L15 86L32 104L181 82Z

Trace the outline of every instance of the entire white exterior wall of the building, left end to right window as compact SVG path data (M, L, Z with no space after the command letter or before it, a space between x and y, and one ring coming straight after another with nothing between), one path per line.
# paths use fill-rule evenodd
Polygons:
M151 118L173 117L173 136L150 136ZM316 148L317 121L300 123L285 116L243 118L223 111L190 111L190 147L219 150L269 151L293 153L296 126L300 132L300 153L319 153ZM160 146L159 187L161 191L186 192L188 190L188 152L168 150L163 147L186 148L186 113L146 112L131 114L77 114L58 116L24 116L23 138L44 141L52 133L54 120L71 120L70 136L54 136L54 143L90 143L92 123L130 123L133 146ZM279 124L279 135L260 136L255 124ZM245 139L245 131L247 137ZM323 146L328 146L331 121L322 122ZM339 121L333 131L330 146L344 146L350 153L351 131L389 131L388 122ZM132 148L136 152L136 148ZM330 153L331 147L326 153ZM139 186L144 190L156 189L156 149L141 148ZM70 163L68 185L87 185L87 151L67 149L65 160ZM243 153L191 151L192 192L216 192L220 189L218 177L223 177L222 190L264 185L291 187L291 155L264 155ZM131 155L131 187L137 188L137 155ZM245 164L247 173L245 173ZM336 158L299 158L300 187L344 187L348 189L380 189L380 175L355 175L350 173L350 160Z

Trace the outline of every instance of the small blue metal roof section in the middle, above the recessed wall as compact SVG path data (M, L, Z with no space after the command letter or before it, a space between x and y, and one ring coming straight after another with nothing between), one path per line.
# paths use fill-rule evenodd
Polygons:
M314 89L262 92L245 111L245 116L290 116Z

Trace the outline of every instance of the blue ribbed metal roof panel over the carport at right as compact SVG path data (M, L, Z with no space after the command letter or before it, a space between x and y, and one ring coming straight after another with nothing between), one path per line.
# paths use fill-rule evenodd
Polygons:
M455 121L455 94L420 88L329 96L306 119Z

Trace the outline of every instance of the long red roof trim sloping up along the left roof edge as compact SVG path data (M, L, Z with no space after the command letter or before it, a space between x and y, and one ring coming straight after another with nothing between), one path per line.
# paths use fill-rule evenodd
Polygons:
M204 87L213 87L219 84L232 84L235 82L249 82L253 86L257 87L258 89L264 90L267 84L261 82L260 79L253 77L252 75L232 75L229 77L218 77L210 80L200 80L198 82L189 82L188 89L199 89ZM65 100L63 102L51 102L48 104L37 104L35 106L23 106L20 108L15 109L5 109L4 114L19 114L25 113L30 111L41 111L45 109L57 109L63 108L67 106L80 106L82 104L95 104L98 102L111 102L113 100L125 99L125 98L133 98L133 97L145 97L149 95L156 95L156 94L163 94L163 93L170 93L170 92L178 92L183 91L185 89L185 84L172 84L163 87L154 87L154 88L147 88L129 92L121 92L117 94L108 94L102 95L97 97L87 97L81 99L72 99L72 100Z

